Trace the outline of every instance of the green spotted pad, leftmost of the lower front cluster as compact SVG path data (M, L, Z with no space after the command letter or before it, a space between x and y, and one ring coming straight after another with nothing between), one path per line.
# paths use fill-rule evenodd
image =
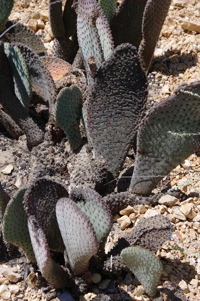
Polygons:
M23 208L26 189L16 192L7 204L3 218L3 238L23 250L26 257L35 262L35 257L27 227L27 216Z

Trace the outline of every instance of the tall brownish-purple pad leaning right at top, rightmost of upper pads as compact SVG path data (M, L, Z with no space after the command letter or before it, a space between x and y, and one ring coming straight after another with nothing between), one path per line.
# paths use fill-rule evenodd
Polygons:
M171 0L148 0L142 20L142 41L139 46L141 65L149 69L159 34Z

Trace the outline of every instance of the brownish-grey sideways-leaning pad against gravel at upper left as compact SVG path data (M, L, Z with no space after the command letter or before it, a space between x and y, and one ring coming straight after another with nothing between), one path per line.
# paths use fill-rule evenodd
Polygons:
M12 25L14 26L11 27ZM2 37L2 40L4 42L22 43L28 45L37 54L46 54L46 49L41 39L37 35L35 35L35 33L27 26L22 23L16 23L15 21L7 21L6 29L8 28L10 28L10 30L6 32Z

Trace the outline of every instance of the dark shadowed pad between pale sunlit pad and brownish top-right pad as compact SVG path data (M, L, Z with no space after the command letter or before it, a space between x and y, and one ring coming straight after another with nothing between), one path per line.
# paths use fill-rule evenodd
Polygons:
M122 0L112 23L114 45L130 43L137 49L142 40L142 17L147 0ZM154 34L152 32L152 36Z

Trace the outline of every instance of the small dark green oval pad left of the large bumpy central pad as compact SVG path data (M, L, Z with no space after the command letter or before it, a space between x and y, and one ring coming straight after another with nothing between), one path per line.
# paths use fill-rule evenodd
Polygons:
M81 106L82 94L75 85L63 88L57 95L55 120L64 130L72 149L78 148L82 142L79 130Z

